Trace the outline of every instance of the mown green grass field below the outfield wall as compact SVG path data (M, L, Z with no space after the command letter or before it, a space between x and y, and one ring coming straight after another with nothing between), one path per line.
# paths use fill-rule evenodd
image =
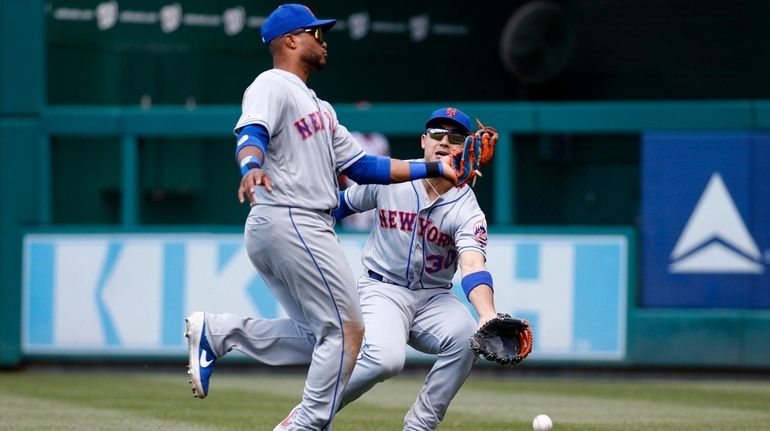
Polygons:
M529 377L476 373L439 430L770 430L770 380ZM184 371L0 372L0 430L272 430L299 401L300 375L222 370L193 399ZM381 383L336 431L401 430L422 377Z

